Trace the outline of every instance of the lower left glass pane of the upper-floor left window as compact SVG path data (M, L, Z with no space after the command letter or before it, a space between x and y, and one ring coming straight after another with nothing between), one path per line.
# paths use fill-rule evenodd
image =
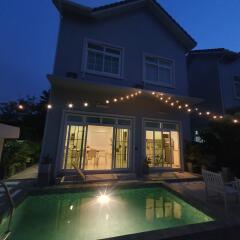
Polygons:
M103 54L88 51L87 69L93 71L103 71Z

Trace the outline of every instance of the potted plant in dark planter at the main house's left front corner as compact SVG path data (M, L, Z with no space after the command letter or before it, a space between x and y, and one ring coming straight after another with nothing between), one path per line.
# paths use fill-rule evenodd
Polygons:
M39 165L39 184L41 186L48 186L51 180L52 158L47 154L42 158Z

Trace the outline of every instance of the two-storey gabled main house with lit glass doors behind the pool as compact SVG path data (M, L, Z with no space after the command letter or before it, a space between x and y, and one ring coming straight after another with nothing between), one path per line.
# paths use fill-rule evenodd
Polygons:
M196 42L154 0L54 4L61 21L41 154L53 178L74 174L73 163L86 174L139 176L146 160L152 172L183 170L189 115L154 96L197 101L185 56Z

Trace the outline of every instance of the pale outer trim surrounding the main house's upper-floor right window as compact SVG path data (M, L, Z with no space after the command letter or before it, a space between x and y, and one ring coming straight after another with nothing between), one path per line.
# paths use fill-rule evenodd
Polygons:
M152 81L148 81L145 79L145 73L146 73L146 61L145 61L145 58L146 57L157 57L157 58L160 58L162 59L163 61L169 61L172 63L172 71L171 71L171 75L172 75L172 83L171 84L166 84L166 83L163 83L163 82L152 82ZM155 85L155 86L162 86L162 87L168 87L168 88L175 88L175 61L173 59L170 59L170 58L166 58L166 57L162 57L162 56L159 56L159 55L154 55L154 54L151 54L151 53L143 53L143 58L142 58L142 64L143 64L143 82L144 83L149 83L149 84L152 84L152 85ZM164 66L165 68L168 68L166 66Z

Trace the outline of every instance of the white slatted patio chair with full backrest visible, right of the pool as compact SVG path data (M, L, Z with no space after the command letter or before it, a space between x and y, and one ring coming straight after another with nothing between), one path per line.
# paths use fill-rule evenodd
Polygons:
M225 207L227 207L227 196L234 195L238 197L238 192L235 188L224 184L221 173L215 173L203 169L202 176L205 183L206 198L209 197L210 192L216 193L223 197Z

